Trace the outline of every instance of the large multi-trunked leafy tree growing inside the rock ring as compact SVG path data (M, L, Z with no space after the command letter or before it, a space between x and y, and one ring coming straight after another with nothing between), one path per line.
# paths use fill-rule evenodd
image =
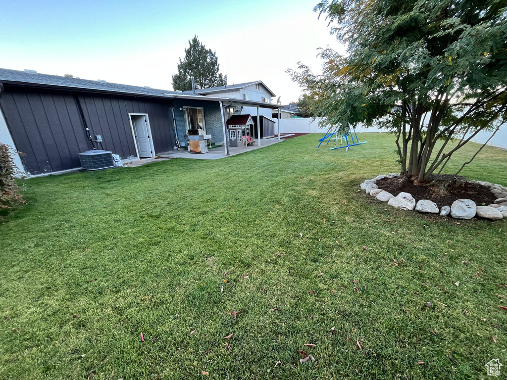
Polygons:
M314 11L325 15L347 55L328 47L320 51L321 75L301 63L299 71L288 71L316 99L314 108L325 116L321 126L389 129L397 137L404 176L428 184L456 150L480 131L496 133L505 122L506 5L323 1Z

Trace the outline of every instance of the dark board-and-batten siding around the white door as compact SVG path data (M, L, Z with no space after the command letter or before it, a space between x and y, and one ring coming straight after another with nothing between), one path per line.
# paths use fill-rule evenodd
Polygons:
M86 125L95 139L94 146L111 150L122 159L136 156L129 113L147 113L156 153L175 146L171 107L168 101L147 101L56 91L6 89L0 105L16 144L26 154L21 159L32 175L81 166L78 154L92 149Z

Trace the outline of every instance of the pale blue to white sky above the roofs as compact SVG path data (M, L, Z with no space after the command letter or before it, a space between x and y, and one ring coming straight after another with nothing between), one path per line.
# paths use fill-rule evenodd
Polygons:
M287 103L301 92L287 68L318 71L318 47L342 50L316 3L0 0L0 67L171 90L196 34L230 84L262 80Z

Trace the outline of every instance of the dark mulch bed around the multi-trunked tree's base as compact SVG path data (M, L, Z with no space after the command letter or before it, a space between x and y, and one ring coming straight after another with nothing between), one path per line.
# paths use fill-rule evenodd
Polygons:
M449 187L447 193L440 193L439 189L431 186L416 186L412 182L406 184L400 178L384 178L377 181L379 188L397 196L401 192L410 193L417 201L428 199L437 204L439 208L450 206L457 199L470 199L481 206L483 203L490 205L494 203L495 197L488 188L479 183L466 182L462 186Z

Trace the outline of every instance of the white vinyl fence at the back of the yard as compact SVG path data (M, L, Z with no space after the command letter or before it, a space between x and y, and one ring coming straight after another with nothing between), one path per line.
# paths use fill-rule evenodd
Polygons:
M276 122L276 133L278 133L278 123L280 125L281 133L325 133L327 128L319 128L317 120L313 121L312 118L300 119L280 119ZM378 128L364 128L358 127L356 132L385 132L385 130ZM484 144L491 136L491 132L479 132L472 141ZM507 125L503 125L495 136L488 142L488 145L497 146L507 149Z

